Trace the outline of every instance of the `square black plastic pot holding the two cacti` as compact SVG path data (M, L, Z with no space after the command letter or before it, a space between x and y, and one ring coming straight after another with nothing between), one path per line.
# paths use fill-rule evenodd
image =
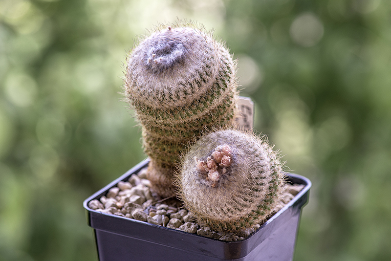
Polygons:
M88 225L93 228L99 261L291 261L302 207L308 202L311 182L288 174L289 182L304 189L264 223L254 235L225 242L147 222L103 214L88 202L106 195L119 181L127 180L148 165L145 160L84 201Z

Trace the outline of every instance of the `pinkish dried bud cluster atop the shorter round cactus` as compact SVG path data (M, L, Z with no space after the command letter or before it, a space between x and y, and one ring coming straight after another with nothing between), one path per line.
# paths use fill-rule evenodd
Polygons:
M232 164L232 151L231 148L225 144L217 146L211 157L208 157L205 161L198 160L197 168L200 171L208 172L208 179L211 180L216 186L217 181L220 178L220 174L217 171L217 167L222 168L222 174L226 172L226 167Z

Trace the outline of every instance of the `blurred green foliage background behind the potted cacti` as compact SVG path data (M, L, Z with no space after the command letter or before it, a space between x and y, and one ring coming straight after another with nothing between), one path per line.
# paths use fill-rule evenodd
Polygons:
M82 202L144 159L126 52L215 29L255 129L311 179L296 261L391 260L391 1L0 0L0 260L96 260Z

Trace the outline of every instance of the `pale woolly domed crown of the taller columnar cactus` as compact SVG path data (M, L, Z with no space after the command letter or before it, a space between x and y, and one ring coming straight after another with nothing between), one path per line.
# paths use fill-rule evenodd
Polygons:
M193 27L169 26L152 33L128 60L128 86L133 86L127 89L128 97L152 109L191 104L212 91L225 60L222 56L230 57L221 47L209 34Z

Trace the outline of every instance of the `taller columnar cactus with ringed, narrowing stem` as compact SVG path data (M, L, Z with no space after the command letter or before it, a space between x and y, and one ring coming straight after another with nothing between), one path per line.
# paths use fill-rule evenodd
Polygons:
M142 127L148 178L160 196L176 194L176 163L188 144L235 124L235 73L224 44L192 23L161 25L131 51L125 95Z

